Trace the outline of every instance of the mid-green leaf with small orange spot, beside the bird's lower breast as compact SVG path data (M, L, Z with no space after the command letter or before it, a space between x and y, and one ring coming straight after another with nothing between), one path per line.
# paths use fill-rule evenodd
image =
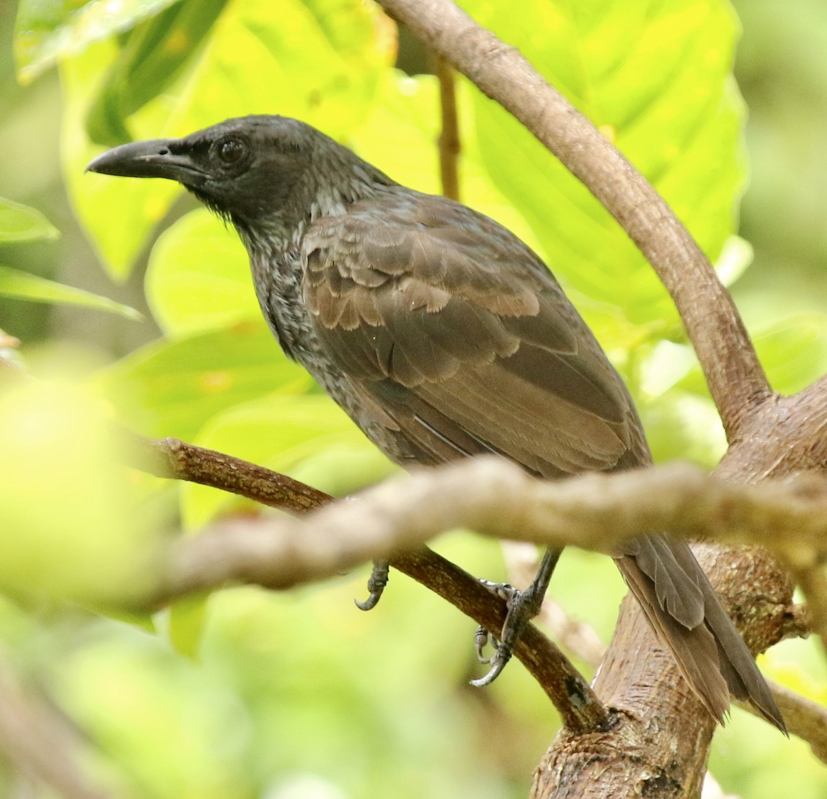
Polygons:
M154 342L99 372L95 382L123 423L184 441L237 404L273 392L304 394L315 385L284 356L263 319Z

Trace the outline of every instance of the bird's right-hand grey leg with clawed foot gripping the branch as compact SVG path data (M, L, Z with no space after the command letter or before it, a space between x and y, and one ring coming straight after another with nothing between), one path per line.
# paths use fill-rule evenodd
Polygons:
M554 567L557 566L561 552L560 549L546 550L536 577L525 591L519 591L507 583L484 581L485 586L490 591L493 591L505 601L508 612L505 615L505 624L503 624L499 639L491 636L492 644L494 644L494 654L491 658L482 657L482 648L488 641L489 631L482 627L477 629L474 636L477 657L480 658L482 663L490 663L491 667L485 677L480 677L479 680L471 680L471 685L481 688L490 685L500 676L505 664L509 662L514 654L514 647L517 646L526 625L540 612L543 597L546 596L548 583L552 579Z

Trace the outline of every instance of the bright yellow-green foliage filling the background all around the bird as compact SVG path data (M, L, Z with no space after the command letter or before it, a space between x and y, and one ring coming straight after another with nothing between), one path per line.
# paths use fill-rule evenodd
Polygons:
M722 278L738 280L736 294L747 287L748 321L761 323L756 342L774 385L793 391L824 374L824 293L801 288L819 275L827 289L823 164L785 162L799 157L796 136L820 141L824 124L808 105L806 134L795 127L801 106L788 85L797 80L796 91L808 103L820 98L823 112L827 26L808 20L810 12L825 16L815 0L796 2L783 17L772 3L743 8L742 84L769 90L758 93L766 105L751 107L757 132L749 143L761 160L745 205L754 213L740 231L745 112L731 72L739 21L728 2L461 4L519 46L653 180ZM395 574L380 608L367 615L351 605L364 595L364 572L283 596L220 591L179 603L151 624L124 624L102 610L140 588L151 568L146 554L162 533L257 512L203 486L170 486L112 466L108 419L245 457L337 495L393 467L284 358L234 232L191 210L175 184L84 175L85 165L102 146L128 138L280 112L320 127L400 182L437 192L437 83L397 67L416 60L398 54L397 41L407 40L369 0L280 0L277 12L269 0L20 2L18 78L28 84L59 65L60 190L106 275L124 281L146 268L146 304L160 328L154 341L105 364L110 342L99 325L85 349L69 346L63 330L51 340L45 330L45 341L24 342L16 356L39 382L20 385L17 376L0 384L0 458L9 475L0 516L10 520L0 639L108 758L98 777L117 783L118 796L519 797L557 725L516 664L490 689L469 689L479 671L473 624ZM786 71L767 66L774 41L785 43ZM32 94L16 95L19 107L7 117L28 120L25 98L49 80L43 74L26 89ZM464 79L457 98L462 199L547 259L629 381L657 459L714 465L725 447L719 420L642 256L495 103ZM770 127L774 103L786 113L781 141ZM56 122L48 113L46 127ZM27 141L26 134L8 141ZM813 151L823 159L821 150ZM14 175L14 155L0 157ZM797 201L791 166L802 180L815 175ZM23 185L36 170L19 174ZM33 203L23 189L0 188ZM72 235L68 216L50 218ZM755 245L749 269L752 249L736 233ZM768 246L762 237L773 234ZM767 263L790 234L801 246L782 257L788 268L779 285ZM0 201L0 242L54 235L31 208ZM14 269L0 270L0 294L17 285L28 299L71 299L14 258L8 263ZM784 317L782 306L800 313ZM22 323L10 318L0 317L0 327L20 336ZM502 574L494 543L454 533L440 548L471 573ZM552 590L608 640L623 594L608 558L566 552ZM764 667L824 701L827 669L810 644L783 644ZM825 769L804 746L738 712L716 736L713 765L724 787L745 797L775 797L791 784L798 797L827 790ZM12 777L2 775L0 793L7 793Z

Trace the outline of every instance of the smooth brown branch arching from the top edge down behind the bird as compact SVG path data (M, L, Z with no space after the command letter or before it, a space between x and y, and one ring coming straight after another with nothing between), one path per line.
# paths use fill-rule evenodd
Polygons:
M528 64L451 0L379 0L391 17L514 114L617 219L674 299L728 438L770 395L732 298L653 186Z

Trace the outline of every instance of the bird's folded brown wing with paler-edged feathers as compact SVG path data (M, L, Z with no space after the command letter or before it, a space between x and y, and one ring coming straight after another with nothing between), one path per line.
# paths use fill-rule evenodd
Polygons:
M418 195L358 203L313 222L304 259L318 336L408 457L497 452L548 477L645 462L629 395L586 324L490 219Z

